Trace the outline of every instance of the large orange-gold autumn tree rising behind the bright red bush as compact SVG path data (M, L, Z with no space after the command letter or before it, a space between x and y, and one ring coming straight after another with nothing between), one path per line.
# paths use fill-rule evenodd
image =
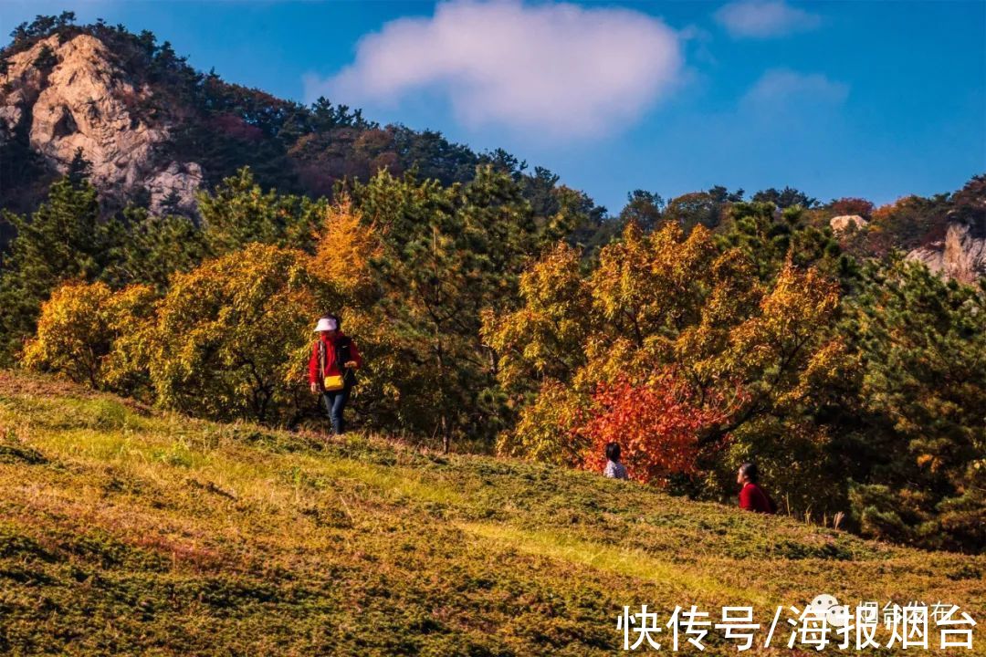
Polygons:
M696 480L725 476L734 459L762 447L758 431L777 418L779 427L810 427L811 396L841 373L842 348L829 329L839 288L817 267L796 265L794 252L777 245L767 251L776 261L757 263L752 242L758 234L750 230L749 241L731 246L702 227L685 235L669 223L644 234L631 223L621 240L600 251L588 275L564 248L539 260L522 279L524 304L507 316L489 315L483 329L501 354L501 384L553 400L544 404L535 395L522 408L518 427L501 437L502 450L517 454L527 447L540 458L571 461L572 452L582 449L565 446L572 440L571 419L576 409L594 408L599 390L626 392L627 400L627 391L637 390L655 404L687 401L673 408L703 420L689 429L695 462L687 473ZM785 243L801 244L799 239L788 235ZM805 261L808 251L802 252ZM649 388L669 367L673 384ZM616 401L607 405L623 408ZM567 410L558 408L563 403ZM552 431L548 425L556 420L562 425ZM597 444L591 433L576 442ZM783 430L775 433L784 436ZM731 451L721 452L728 436ZM659 437L644 443L658 445ZM551 446L562 455L548 455ZM790 460L792 448L777 446L777 462ZM824 449L817 454L823 458ZM666 481L669 472L658 479ZM717 493L714 480L693 482L692 490Z

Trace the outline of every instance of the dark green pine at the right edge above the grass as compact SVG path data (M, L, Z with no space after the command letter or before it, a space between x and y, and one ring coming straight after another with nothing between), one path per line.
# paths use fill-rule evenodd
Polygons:
M899 258L847 303L874 458L853 490L864 532L930 547L986 546L986 287Z

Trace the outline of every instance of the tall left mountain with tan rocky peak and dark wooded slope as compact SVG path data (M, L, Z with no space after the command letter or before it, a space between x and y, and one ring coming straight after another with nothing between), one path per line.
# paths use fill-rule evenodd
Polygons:
M305 106L226 83L152 33L72 18L38 17L0 51L0 207L33 209L77 153L107 209L136 202L182 214L194 213L196 190L244 165L264 187L312 196L382 167L449 184L492 163L527 181L535 204L558 181L503 151L480 155L325 99Z

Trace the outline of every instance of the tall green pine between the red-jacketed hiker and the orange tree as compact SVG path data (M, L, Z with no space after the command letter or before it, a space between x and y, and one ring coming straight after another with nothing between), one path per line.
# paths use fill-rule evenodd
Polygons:
M400 417L446 447L464 436L489 444L509 415L496 357L479 335L481 314L517 302L520 274L580 221L579 209L562 193L554 214L537 215L521 185L491 165L450 187L382 172L353 194L384 240L371 305L396 340L385 358L414 365L397 385L412 400Z

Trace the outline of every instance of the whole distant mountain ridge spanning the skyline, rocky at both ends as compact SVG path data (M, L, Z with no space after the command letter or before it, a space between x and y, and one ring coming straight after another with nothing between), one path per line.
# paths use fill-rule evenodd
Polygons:
M277 99L194 70L153 33L103 22L75 26L73 20L70 12L37 17L0 49L2 209L33 211L55 177L83 167L106 213L132 203L194 217L195 192L245 165L264 188L317 197L331 195L343 179L365 180L381 168L451 184L471 179L477 164L493 164L522 183L536 213L557 211L558 176L542 167L528 170L503 150L477 154L439 132L381 126L359 109L326 99L311 106ZM741 190L728 194L717 186L665 204L637 190L609 221L605 208L578 193L588 219L571 239L590 247L617 234L627 219L715 229L742 198ZM800 203L824 223L857 217L855 210L838 210L853 202L873 210L863 199L820 205L791 188L760 191L752 200L780 208ZM949 278L972 282L986 275L986 177L974 176L952 194L905 197L872 218L864 214L862 223L852 220L856 229L841 231L851 253L873 257L903 249ZM0 222L0 250L10 230Z

